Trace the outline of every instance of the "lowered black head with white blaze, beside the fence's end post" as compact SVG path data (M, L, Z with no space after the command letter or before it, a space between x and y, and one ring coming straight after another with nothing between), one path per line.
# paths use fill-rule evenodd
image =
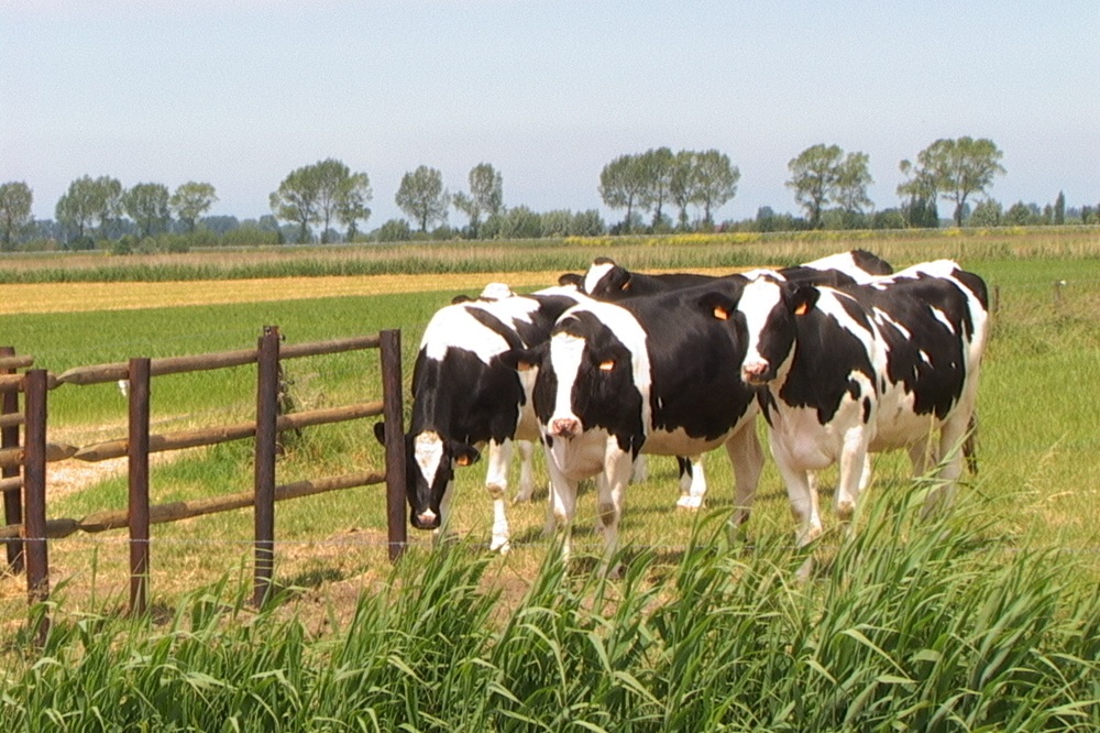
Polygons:
M374 435L386 444L386 424L375 423ZM459 440L449 440L435 430L405 436L405 495L411 510L409 521L417 529L437 529L455 466L470 466L481 453Z

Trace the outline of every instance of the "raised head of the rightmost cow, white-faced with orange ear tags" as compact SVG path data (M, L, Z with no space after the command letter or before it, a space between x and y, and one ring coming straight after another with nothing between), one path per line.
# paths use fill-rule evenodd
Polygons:
M771 275L750 281L740 297L712 292L700 298L700 307L714 318L744 329L746 346L741 380L763 385L777 379L794 353L798 322L813 309L821 292L812 285L789 283Z

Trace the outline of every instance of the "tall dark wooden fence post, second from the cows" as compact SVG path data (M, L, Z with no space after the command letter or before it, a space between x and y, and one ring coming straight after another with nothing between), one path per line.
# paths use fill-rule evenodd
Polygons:
M277 326L265 326L256 354L255 584L252 603L262 606L271 592L275 565L275 456L278 450Z

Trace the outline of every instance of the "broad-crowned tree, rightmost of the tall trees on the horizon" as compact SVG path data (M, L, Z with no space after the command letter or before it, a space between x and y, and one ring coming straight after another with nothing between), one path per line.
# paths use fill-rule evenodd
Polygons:
M967 199L986 193L993 176L1004 173L1003 153L987 138L941 138L922 150L917 165L942 198L955 203L955 226L963 226Z

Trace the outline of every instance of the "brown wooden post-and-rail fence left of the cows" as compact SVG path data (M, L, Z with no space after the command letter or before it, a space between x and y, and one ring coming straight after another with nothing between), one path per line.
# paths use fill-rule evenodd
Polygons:
M279 414L282 360L365 349L380 351L382 400ZM254 422L165 435L150 434L150 384L153 376L252 363L256 364ZM0 348L0 396L2 396L0 489L3 491L6 521L6 525L0 527L0 540L6 540L7 544L9 568L15 572L23 570L26 572L28 598L31 603L48 597L47 539L67 537L76 532L96 533L129 527L130 610L132 613L143 613L146 608L150 567L150 525L252 506L255 524L253 602L260 605L271 590L275 548L275 502L375 483L386 484L391 560L396 560L405 548L407 515L398 330L334 341L283 346L278 328L266 327L255 349L164 359L131 359L125 363L78 366L59 375L41 369L30 369L32 365L33 358L16 355L10 347ZM25 371L20 372L20 370ZM129 381L127 438L82 448L47 441L47 395L51 390L63 385L99 384L118 380ZM20 393L23 395L22 409L19 408ZM400 428L386 430L387 436L395 436L396 439L386 442L384 473L356 472L276 485L275 460L279 433L374 415L383 415L387 425ZM19 439L20 426L23 433L22 444ZM246 438L255 440L255 471L251 491L150 505L151 453ZM48 462L67 458L98 461L123 456L129 458L129 502L125 510L98 512L82 519L46 518Z

